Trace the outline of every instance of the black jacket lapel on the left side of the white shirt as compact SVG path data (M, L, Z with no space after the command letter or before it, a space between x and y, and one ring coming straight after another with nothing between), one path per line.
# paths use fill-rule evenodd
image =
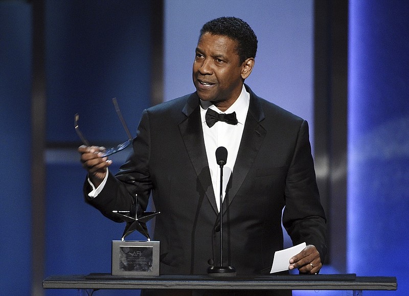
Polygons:
M186 119L179 123L180 134L185 143L190 161L196 171L199 183L209 199L213 210L217 213L216 199L200 122L199 98L195 93L189 96L182 112L186 115Z

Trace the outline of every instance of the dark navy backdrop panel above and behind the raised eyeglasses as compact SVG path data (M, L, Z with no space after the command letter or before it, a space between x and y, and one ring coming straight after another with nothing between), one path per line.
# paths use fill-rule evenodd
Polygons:
M74 114L92 144L127 139L111 99L135 135L150 105L149 1L47 1L47 141L78 142Z

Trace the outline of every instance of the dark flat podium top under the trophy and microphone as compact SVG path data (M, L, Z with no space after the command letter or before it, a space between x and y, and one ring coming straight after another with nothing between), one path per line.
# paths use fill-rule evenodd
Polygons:
M364 290L396 290L395 277L357 277L347 275L266 275L256 277L213 278L209 276L162 275L146 278L115 277L110 274L51 276L44 289L77 289L88 295L97 289L198 289L198 290L351 290L360 296Z

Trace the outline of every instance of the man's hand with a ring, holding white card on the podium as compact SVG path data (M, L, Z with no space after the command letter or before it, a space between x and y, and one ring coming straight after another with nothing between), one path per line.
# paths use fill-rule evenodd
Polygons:
M317 274L322 266L320 253L314 245L309 244L290 259L289 269L298 268L304 274Z

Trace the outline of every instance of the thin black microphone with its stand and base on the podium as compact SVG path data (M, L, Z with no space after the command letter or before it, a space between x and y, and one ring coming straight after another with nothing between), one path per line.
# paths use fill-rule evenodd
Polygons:
M211 277L235 277L236 268L223 266L223 166L227 162L227 149L223 146L216 149L216 162L220 166L220 266L210 266L208 274Z

